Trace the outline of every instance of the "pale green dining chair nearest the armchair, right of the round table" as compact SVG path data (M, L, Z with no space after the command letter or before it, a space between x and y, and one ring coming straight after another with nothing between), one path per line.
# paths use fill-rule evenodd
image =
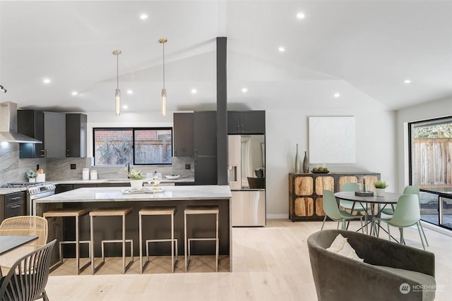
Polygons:
M388 235L391 241L391 231L389 226L397 227L400 229L400 243L405 244L405 239L403 238L403 228L411 227L416 225L417 231L421 238L422 247L425 250L424 240L422 239L422 234L419 226L419 221L421 219L419 200L417 195L401 195L398 198L396 209L391 219L383 219L381 217L376 217L376 221L384 221L388 224Z

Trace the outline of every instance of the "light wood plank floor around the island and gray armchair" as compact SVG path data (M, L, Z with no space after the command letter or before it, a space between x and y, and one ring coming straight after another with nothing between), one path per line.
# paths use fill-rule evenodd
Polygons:
M352 222L350 230L358 224ZM330 221L326 228L336 225ZM172 274L169 257L162 257L151 262L143 275L139 259L125 275L121 260L110 259L95 276L90 275L90 267L76 276L74 261L69 259L50 275L47 295L51 301L317 300L307 238L320 228L321 222L274 219L263 228L233 228L232 272L227 269L228 258L221 259L220 271L215 273L215 257L203 257L195 258L189 273L184 273L184 257L179 257ZM424 230L430 244L427 250L436 255L436 300L451 300L452 237ZM405 240L407 245L422 248L416 228L405 230Z

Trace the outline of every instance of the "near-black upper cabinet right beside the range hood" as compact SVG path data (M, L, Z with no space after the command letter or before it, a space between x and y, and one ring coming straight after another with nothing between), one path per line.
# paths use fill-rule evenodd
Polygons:
M35 110L17 111L17 131L28 137L42 141L42 143L20 143L19 157L44 157L44 112Z

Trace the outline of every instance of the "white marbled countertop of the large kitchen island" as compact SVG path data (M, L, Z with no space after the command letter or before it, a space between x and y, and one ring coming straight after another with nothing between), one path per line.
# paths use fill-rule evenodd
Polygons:
M163 186L162 192L156 193L128 193L129 189L130 187L78 188L35 199L35 203L230 199L231 197L231 190L227 185Z

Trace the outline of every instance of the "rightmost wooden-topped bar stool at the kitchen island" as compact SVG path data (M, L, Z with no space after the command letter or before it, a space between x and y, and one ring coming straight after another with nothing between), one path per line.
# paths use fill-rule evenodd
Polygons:
M219 239L218 239L218 213L220 209L216 205L206 205L206 206L187 206L184 210L184 254L185 254L185 271L189 269L190 264L190 247L191 242L214 240L215 241L215 271L218 271L218 249L219 249ZM215 238L188 238L187 237L187 223L186 218L189 214L215 214L216 224L215 224ZM188 247L188 250L187 250ZM188 254L188 262L187 262Z

